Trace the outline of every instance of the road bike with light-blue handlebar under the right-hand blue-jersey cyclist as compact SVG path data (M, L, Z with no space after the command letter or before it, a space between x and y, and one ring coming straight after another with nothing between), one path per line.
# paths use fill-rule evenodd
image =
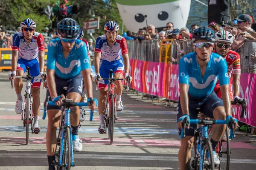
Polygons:
M230 121L230 136L229 139L235 137L234 124L235 119L231 118ZM194 159L192 160L191 166L194 170L215 170L212 154L212 144L210 142L208 131L213 124L226 124L225 120L212 120L212 119L190 119L190 124L201 124L201 127L195 130L194 134ZM185 135L185 130L189 123L187 118L183 119L183 128L181 129L180 138ZM207 153L209 153L210 160L207 160Z

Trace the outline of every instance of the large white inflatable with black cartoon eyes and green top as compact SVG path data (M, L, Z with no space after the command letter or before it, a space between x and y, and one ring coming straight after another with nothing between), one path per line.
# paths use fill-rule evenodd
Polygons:
M185 27L190 3L191 0L116 0L126 28L134 32L147 26L146 19L148 25L154 25L158 31L165 28L169 22L172 22L175 28Z

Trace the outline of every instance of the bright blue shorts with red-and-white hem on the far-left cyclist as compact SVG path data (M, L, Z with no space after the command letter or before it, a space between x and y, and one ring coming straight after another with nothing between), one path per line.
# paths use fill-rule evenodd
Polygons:
M24 73L26 72L26 68L29 67L29 73L31 74L32 77L38 77L40 74L39 71L39 62L38 59L31 59L31 60L26 60L23 58L19 58L17 61L17 71L22 70ZM42 79L32 79L31 83L32 86L31 88L40 88L41 86Z

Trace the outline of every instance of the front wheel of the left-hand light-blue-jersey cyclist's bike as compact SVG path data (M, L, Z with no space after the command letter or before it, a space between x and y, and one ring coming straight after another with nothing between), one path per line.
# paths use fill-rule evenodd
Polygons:
M70 127L66 127L64 132L63 144L63 157L62 157L62 170L70 170L71 168L71 140L70 140Z

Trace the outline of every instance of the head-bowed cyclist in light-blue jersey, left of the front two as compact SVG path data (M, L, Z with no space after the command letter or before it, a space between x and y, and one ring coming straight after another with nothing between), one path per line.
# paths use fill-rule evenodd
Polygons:
M49 42L47 55L47 96L56 103L57 106L47 106L48 128L46 134L47 156L49 170L55 170L54 151L56 147L56 130L60 121L61 98L65 98L63 87L67 88L67 98L73 102L80 102L83 92L83 83L87 91L88 103L91 109L95 109L93 102L92 82L90 78L90 60L88 58L86 44L78 40L79 25L72 18L65 18L58 23L57 39ZM70 114L70 123L73 134L73 149L82 150L82 142L78 136L80 110L73 107Z

